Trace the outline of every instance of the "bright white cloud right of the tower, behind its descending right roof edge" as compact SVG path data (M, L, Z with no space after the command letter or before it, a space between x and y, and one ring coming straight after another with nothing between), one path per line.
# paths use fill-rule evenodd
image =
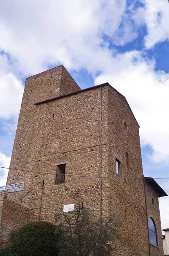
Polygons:
M142 145L152 145L152 160L169 162L169 75L155 73L154 63L147 63L138 52L117 55L111 67L95 84L108 81L126 96L141 126Z

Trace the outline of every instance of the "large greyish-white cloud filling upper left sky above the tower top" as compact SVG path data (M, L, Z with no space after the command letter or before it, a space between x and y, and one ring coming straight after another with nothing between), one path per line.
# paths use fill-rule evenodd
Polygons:
M91 69L93 58L95 67L90 72L95 72L100 56L112 54L103 35L116 44L137 36L141 15L136 18L139 11L130 7L135 17L130 19L126 9L125 0L25 0L24 5L21 0L10 5L4 1L0 9L0 48L17 60L15 68L26 76L58 62L76 70Z

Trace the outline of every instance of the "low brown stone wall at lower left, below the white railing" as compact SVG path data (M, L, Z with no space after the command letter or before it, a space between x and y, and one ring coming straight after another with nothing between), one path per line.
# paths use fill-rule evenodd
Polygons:
M31 211L8 200L8 192L0 192L0 249L11 243L10 233L31 220Z

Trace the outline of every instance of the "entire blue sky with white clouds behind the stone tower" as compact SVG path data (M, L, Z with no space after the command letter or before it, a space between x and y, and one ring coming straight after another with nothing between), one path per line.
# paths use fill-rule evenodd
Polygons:
M63 64L83 89L109 82L140 124L144 175L169 177L168 0L0 0L0 166L25 78ZM0 169L0 186L7 171ZM156 180L169 194L169 179ZM162 228L169 199L160 199Z

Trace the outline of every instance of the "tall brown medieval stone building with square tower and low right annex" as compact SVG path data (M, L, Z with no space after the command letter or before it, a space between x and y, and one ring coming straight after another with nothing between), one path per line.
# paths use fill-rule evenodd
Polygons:
M54 222L59 208L83 202L95 215L118 213L117 255L163 255L158 196L165 192L152 179L145 189L139 179L139 125L108 83L81 90L62 65L26 79L10 168L7 185L24 186L5 196L28 209L29 221ZM149 243L149 215L156 246Z

